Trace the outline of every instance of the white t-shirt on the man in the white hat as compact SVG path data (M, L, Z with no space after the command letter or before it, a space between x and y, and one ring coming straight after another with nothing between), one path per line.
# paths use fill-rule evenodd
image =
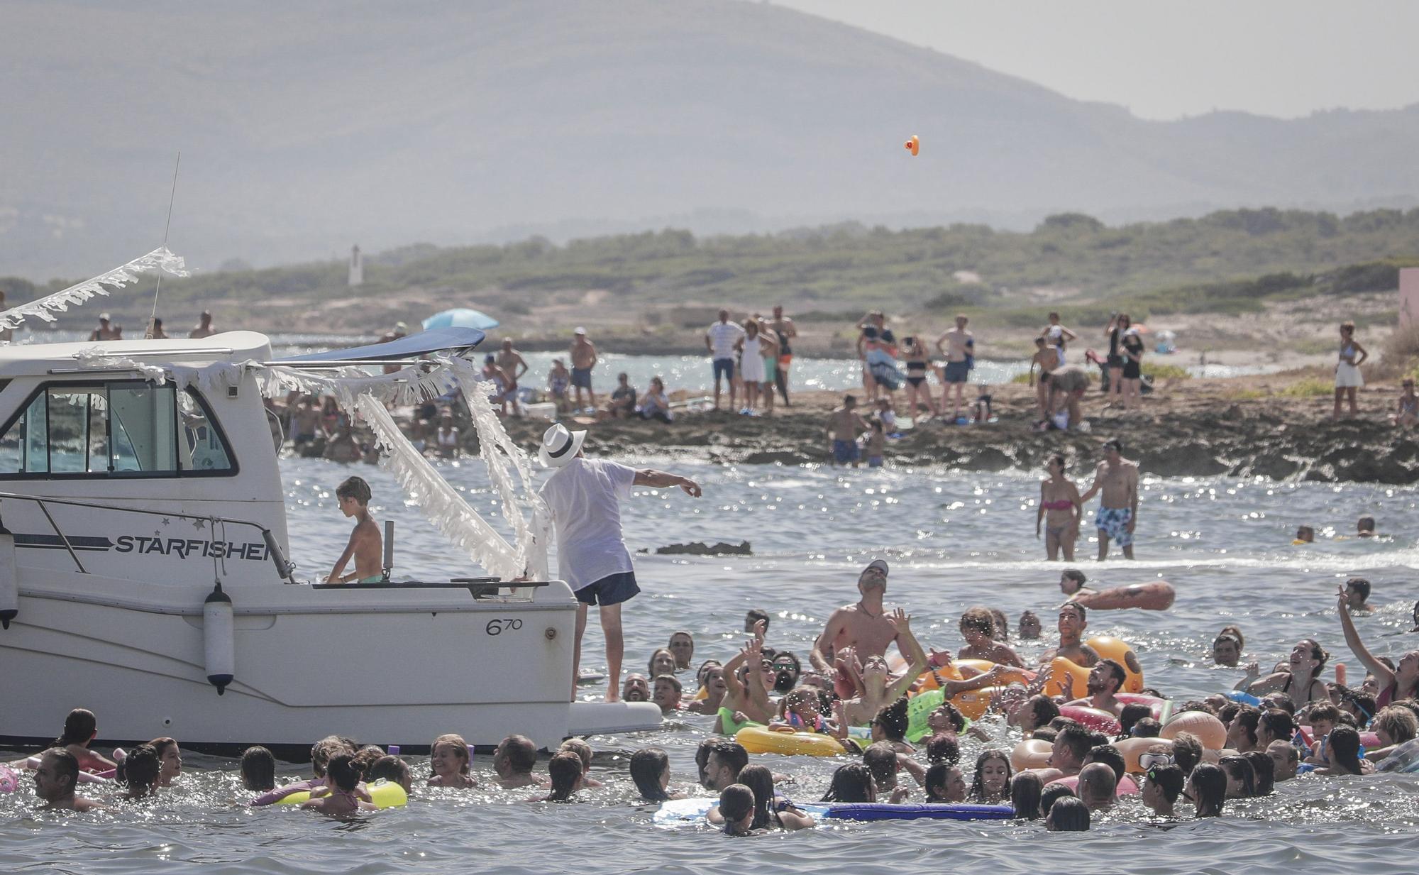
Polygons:
M556 570L573 592L634 571L620 530L620 499L630 497L634 480L633 467L582 457L542 484L542 499L556 526Z

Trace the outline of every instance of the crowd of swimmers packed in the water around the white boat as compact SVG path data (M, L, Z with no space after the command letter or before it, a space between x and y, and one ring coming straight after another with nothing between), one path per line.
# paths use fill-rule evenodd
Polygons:
M1205 747L1191 732L1164 737L1164 724L1149 706L1121 702L1117 695L1127 678L1124 665L1101 658L1086 642L1088 611L1067 601L1059 608L1057 642L1042 641L1037 614L1025 611L1012 628L999 609L973 607L959 622L965 645L955 656L924 652L904 611L885 611L885 562L874 562L858 578L861 599L856 608L866 618L881 619L891 638L870 641L873 626L853 626L830 619L813 645L810 659L766 643L772 616L751 611L745 629L752 638L725 663L694 663L692 635L674 632L667 646L647 661L647 672L631 673L622 690L629 702L653 700L667 717L681 713L717 714L715 736L700 743L695 783L717 797L708 801L710 821L729 834L763 830L800 830L813 817L792 801L797 783L775 774L732 737L735 726L759 723L769 730L830 734L841 740L851 761L839 764L826 793L815 803L937 803L1009 805L1022 821L1043 821L1049 830L1087 830L1108 811L1134 820L1220 817L1232 800L1264 797L1277 783L1298 774L1364 776L1376 770L1405 768L1419 763L1419 651L1398 662L1374 655L1362 641L1352 615L1371 611L1372 585L1351 578L1337 591L1337 609L1347 646L1364 666L1359 683L1323 678L1330 655L1313 639L1300 641L1287 659L1270 672L1247 661L1246 636L1237 625L1223 626L1212 642L1210 659L1219 666L1244 668L1230 693L1175 703L1172 720L1188 712L1212 714L1225 727L1225 743ZM1070 570L1060 580L1066 595L1084 588L1083 575ZM849 605L847 608L853 608ZM846 611L843 608L840 611ZM861 619L861 618L860 618ZM844 631L847 636L844 638ZM854 638L856 636L856 638ZM1084 690L1066 695L1043 692L1049 672L1032 685L996 685L992 675L1026 662L1012 638L1047 646L1040 666L1057 656L1088 668ZM847 643L844 643L847 642ZM885 648L895 642L907 666L898 676L887 669ZM836 645L836 646L834 646ZM989 659L999 668L962 679L942 678L955 659ZM756 666L756 668L755 668ZM680 675L695 678L687 689ZM908 741L908 697L918 675L931 673L945 699L927 719L927 732ZM1002 720L972 723L949 702L959 690L996 686L992 712ZM1144 693L1162 699L1155 689ZM1061 713L1067 706L1108 712L1117 732L1105 734ZM850 734L850 726L866 732ZM1016 768L1012 763L1015 732L1047 743L1047 759ZM1362 746L1361 733L1374 733ZM65 720L54 746L37 757L17 760L11 768L33 770L34 793L45 808L88 811L158 795L182 776L182 756L170 737L153 739L128 751L122 761L89 749L98 734L96 719L84 709ZM983 744L973 763L964 760L965 739ZM1138 750L1130 741L1125 757L1120 744L1158 739ZM1037 747L1037 750L1046 750ZM473 770L473 750L457 734L444 734L430 746L426 771L416 774L409 759L350 739L328 737L311 750L311 777L278 786L277 761L265 747L251 747L241 757L241 781L251 805L268 805L294 793L308 793L304 808L329 815L349 815L373 808L369 784L390 781L412 791L416 784L471 790L481 784L526 790L528 801L569 803L597 786L590 774L592 747L570 739L555 751L546 771L539 771L538 749L524 736L508 736L492 753L491 774ZM1131 761L1130 761L1131 760ZM782 767L782 760L773 761ZM112 784L81 784L81 773L112 771ZM634 794L644 803L695 795L673 787L670 759L660 747L629 756ZM108 790L89 798L85 788ZM1128 788L1128 794L1121 794ZM1137 791L1137 793L1134 793ZM800 801L803 797L799 797Z

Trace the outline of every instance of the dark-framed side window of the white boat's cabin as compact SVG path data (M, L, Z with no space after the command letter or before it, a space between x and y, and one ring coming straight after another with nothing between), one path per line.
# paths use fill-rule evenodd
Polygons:
M234 473L200 398L173 385L51 384L0 435L0 477Z

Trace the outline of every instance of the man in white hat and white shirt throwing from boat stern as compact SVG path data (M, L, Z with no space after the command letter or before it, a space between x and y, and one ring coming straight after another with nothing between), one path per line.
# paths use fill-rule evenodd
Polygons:
M542 435L538 455L543 466L556 469L542 484L542 499L556 527L558 574L578 601L572 683L576 683L582 669L586 608L600 605L602 632L606 635L606 700L616 702L620 699L620 665L626 649L620 607L640 592L622 536L620 500L630 497L631 486L678 486L698 499L700 484L648 467L636 470L609 459L587 459L582 455L583 440L586 432L569 432L565 425L553 425ZM576 695L575 686L572 695Z

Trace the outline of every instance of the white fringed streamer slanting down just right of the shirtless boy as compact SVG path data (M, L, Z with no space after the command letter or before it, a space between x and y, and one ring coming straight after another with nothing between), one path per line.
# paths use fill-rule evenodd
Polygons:
M518 551L409 443L385 405L370 395L360 395L355 403L365 422L375 429L379 446L386 450L386 466L409 497L419 501L438 531L455 547L467 550L488 574L505 581L522 577L524 562Z

